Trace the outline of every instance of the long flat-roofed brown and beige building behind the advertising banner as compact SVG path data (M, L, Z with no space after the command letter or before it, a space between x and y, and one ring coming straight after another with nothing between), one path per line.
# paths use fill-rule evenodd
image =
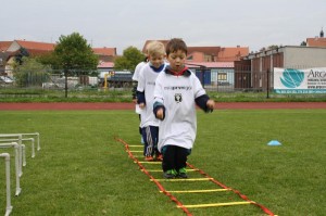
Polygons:
M235 88L273 88L274 67L326 67L326 48L285 46L249 54L235 62Z

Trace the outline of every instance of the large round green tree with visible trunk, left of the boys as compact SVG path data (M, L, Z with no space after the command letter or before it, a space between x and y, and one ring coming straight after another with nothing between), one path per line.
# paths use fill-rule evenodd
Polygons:
M58 68L62 68L65 76L65 98L67 98L67 77L88 75L97 68L99 59L87 40L78 33L61 36L54 48L54 59Z

